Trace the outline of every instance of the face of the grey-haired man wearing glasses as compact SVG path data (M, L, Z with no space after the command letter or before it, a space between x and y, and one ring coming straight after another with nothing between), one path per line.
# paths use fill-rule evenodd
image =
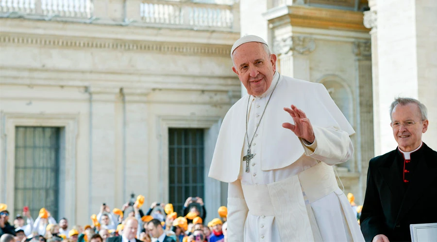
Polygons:
M422 142L422 133L428 129L428 120L421 120L416 104L396 105L391 113L393 136L401 151L414 151Z

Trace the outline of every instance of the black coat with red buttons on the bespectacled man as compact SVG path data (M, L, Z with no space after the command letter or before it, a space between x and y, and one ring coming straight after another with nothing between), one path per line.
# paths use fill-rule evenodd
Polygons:
M360 217L366 241L411 241L410 224L437 222L437 152L425 143L405 160L398 149L370 160ZM437 238L436 238L437 241Z

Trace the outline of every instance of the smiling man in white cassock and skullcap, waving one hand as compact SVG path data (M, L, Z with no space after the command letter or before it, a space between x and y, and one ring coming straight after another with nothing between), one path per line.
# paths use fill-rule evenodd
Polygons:
M324 86L276 72L258 36L231 57L248 95L226 114L209 171L229 183L228 241L364 241L332 167L352 157L354 131Z

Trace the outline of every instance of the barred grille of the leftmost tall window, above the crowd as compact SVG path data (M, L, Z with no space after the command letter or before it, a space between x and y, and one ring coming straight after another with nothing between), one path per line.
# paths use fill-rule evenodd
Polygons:
M59 219L60 128L17 126L15 131L14 216L29 206L34 219L41 208Z

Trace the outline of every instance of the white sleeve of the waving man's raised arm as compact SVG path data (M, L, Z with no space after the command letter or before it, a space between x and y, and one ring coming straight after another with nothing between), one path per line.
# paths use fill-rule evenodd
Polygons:
M313 126L316 140L307 145L303 139L302 143L305 155L328 165L336 165L346 162L352 157L353 144L349 134L336 128L322 128Z

